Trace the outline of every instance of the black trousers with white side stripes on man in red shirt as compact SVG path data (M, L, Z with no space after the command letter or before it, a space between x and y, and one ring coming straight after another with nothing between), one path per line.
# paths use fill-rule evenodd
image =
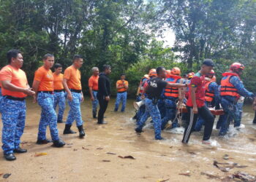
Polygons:
M187 111L188 112L186 118L188 125L185 128L182 143L189 142L190 135L194 130L198 116L201 116L206 122L203 132L203 141L208 141L211 138L212 128L214 127L214 116L211 114L211 111L206 106L198 108L197 114L194 114L192 107L187 107Z

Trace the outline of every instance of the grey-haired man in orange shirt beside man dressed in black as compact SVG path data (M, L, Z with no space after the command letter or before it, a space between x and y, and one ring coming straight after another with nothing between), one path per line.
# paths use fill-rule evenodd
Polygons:
M99 104L99 101L97 99L99 68L97 67L91 68L91 71L92 71L92 76L89 79L89 91L90 91L91 103L92 103L92 116L94 117L94 119L96 119L97 106Z

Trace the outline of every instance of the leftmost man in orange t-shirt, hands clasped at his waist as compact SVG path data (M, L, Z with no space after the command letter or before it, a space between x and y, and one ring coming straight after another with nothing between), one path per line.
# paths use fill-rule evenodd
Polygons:
M24 153L20 148L20 137L23 134L26 119L27 95L34 95L29 87L26 74L20 68L23 66L23 56L19 50L7 52L8 65L1 69L1 86L4 104L1 109L3 121L2 149L4 158L15 160L15 153Z

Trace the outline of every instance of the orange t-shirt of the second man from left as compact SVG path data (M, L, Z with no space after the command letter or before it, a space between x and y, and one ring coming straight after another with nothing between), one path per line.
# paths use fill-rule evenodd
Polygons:
M40 82L37 91L53 91L53 72L41 66L34 73L34 80Z

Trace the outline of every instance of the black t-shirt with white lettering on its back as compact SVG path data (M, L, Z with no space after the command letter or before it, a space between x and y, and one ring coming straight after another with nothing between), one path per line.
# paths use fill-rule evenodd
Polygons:
M166 87L167 82L157 77L148 81L146 94L148 98L160 98L162 90Z

